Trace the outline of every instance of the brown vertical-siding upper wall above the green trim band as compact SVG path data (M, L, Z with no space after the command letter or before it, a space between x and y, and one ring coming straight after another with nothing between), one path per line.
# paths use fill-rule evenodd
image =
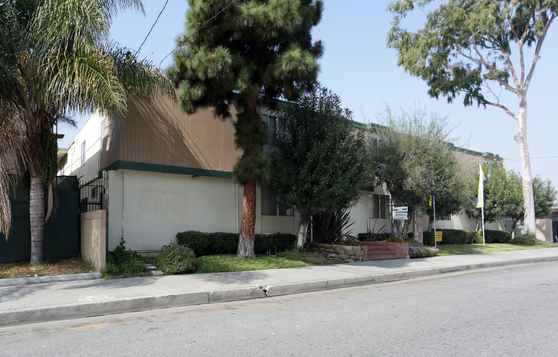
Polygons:
M122 122L107 130L101 167L117 160L157 165L232 171L240 151L234 147L234 119L218 119L213 109L193 115L169 98L156 97L130 103Z

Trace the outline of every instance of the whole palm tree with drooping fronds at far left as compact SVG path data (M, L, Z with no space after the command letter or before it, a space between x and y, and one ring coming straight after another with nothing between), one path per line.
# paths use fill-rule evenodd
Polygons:
M109 42L118 11L140 0L8 0L0 4L0 159L21 163L30 182L31 264L42 262L45 184L56 172L54 124L74 113L124 112L129 99L174 97L165 75ZM21 134L23 133L23 134ZM2 138L6 136L1 136ZM0 229L9 229L8 180L0 164ZM20 171L21 173L21 171ZM8 202L9 205L9 202Z

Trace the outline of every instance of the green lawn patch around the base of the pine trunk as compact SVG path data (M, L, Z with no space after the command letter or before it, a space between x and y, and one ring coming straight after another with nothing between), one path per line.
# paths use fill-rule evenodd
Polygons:
M197 273L243 272L261 269L309 267L311 264L258 255L257 259L237 258L234 254L204 255L196 259Z

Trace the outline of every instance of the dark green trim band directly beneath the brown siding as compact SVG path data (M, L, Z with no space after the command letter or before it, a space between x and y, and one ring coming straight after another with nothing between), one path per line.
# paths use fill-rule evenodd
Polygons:
M175 173L176 175L213 177L215 179L232 179L233 173L228 171L206 170L205 168L180 167L170 165L157 165L155 163L143 163L132 161L117 161L104 167L99 171L99 176L103 175L103 171L110 170L133 170L160 173Z

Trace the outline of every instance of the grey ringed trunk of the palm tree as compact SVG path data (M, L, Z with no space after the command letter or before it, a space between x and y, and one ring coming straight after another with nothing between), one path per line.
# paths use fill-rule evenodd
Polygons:
M29 165L29 215L31 220L31 265L42 263L42 242L45 230L45 184L39 162Z

